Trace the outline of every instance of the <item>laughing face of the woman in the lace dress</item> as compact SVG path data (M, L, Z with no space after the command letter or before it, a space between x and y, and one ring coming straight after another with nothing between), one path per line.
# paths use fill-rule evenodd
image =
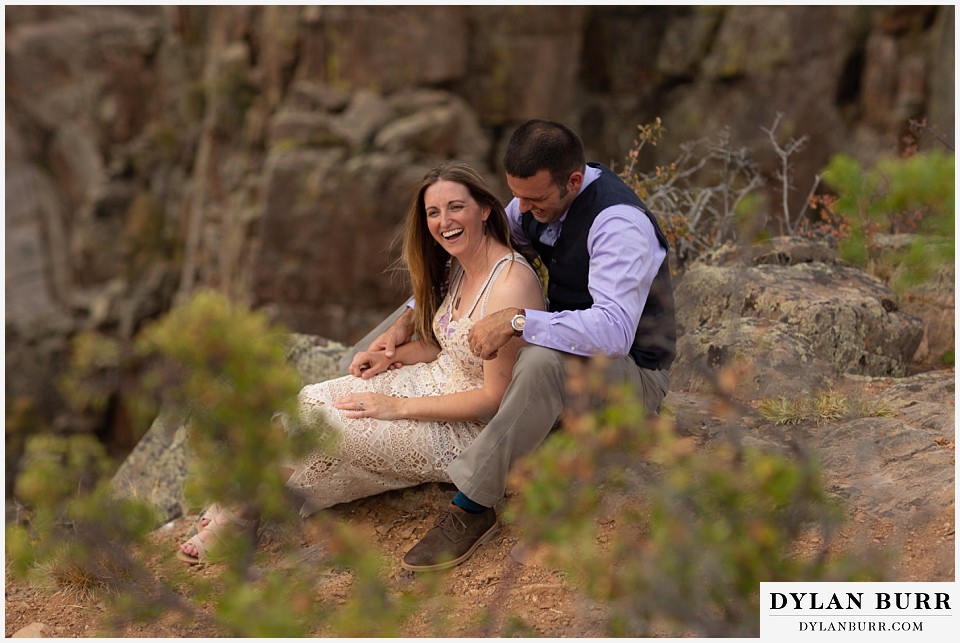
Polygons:
M440 180L423 193L430 235L454 257L463 257L483 244L483 222L489 207L481 207L470 190L456 181Z

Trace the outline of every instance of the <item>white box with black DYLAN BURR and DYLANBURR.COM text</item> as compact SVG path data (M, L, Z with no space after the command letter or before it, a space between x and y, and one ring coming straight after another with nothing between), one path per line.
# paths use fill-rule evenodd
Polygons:
M760 583L760 638L956 640L956 583Z

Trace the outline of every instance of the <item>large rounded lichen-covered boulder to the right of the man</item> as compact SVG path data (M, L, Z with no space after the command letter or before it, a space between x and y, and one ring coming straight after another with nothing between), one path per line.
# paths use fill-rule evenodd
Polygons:
M711 372L738 365L752 373L737 384L743 399L809 394L843 373L908 372L923 322L879 279L820 244L774 241L746 253L715 253L678 280L671 379L680 388L709 390Z

